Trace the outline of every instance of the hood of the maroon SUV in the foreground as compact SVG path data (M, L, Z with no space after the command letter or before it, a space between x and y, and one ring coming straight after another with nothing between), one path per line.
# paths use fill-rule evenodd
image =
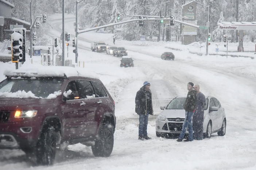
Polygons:
M0 110L44 106L54 102L54 99L44 98L0 98Z

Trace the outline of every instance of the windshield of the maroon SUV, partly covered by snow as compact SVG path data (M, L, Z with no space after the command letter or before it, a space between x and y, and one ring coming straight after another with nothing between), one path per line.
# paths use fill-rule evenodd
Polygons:
M15 93L31 91L36 97L46 98L49 94L61 90L63 78L12 78L5 79L0 83L0 93Z

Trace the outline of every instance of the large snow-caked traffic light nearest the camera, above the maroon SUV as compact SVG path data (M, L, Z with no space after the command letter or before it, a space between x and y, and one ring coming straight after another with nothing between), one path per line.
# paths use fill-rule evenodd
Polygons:
M13 32L11 35L12 39L12 62L18 62L18 59L22 59L22 45L23 36L18 32Z

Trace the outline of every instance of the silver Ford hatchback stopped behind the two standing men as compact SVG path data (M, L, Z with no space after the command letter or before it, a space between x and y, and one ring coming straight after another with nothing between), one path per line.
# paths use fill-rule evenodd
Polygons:
M183 104L186 97L176 97L170 101L165 107L160 107L163 110L156 118L156 136L168 137L174 134L179 135L182 130L182 124L185 119L185 110ZM203 134L204 137L210 138L212 133L218 133L219 136L224 136L226 133L226 115L217 98L206 97L206 105L203 116ZM188 131L186 131L188 134Z

